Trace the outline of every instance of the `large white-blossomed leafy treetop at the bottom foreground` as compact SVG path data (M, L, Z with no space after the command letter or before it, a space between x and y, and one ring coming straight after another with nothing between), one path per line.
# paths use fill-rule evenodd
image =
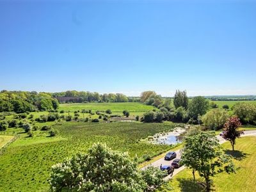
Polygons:
M50 184L52 191L143 191L146 186L127 154L101 144L52 166Z

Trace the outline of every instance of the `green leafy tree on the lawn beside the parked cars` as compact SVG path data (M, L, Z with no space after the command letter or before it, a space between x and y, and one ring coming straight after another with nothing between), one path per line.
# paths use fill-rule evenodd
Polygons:
M234 172L234 163L231 157L221 150L214 132L200 132L200 134L186 138L182 161L192 168L193 172L196 170L200 177L204 178L206 191L211 189L211 177L224 171Z

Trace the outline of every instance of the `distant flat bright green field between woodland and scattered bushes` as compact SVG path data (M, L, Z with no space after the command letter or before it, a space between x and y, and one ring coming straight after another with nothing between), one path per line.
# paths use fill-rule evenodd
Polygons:
M154 109L153 106L147 106L139 102L91 102L91 103L76 103L76 104L60 104L59 111L77 111L82 109L92 109L93 112L106 111L111 109L113 114L122 115L124 110L130 112L131 115L142 115L143 113Z

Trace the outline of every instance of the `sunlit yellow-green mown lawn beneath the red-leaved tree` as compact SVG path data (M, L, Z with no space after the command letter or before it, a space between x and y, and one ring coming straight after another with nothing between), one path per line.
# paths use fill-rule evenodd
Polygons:
M237 140L235 145L235 152L231 150L229 142L223 143L223 148L228 154L234 156L234 163L238 170L236 173L220 173L214 177L215 191L244 191L251 192L256 191L255 180L256 180L256 137L244 137ZM199 182L202 179L196 175ZM173 177L166 186L159 191L203 191L201 186L193 184L193 176L191 170L185 169L178 175Z

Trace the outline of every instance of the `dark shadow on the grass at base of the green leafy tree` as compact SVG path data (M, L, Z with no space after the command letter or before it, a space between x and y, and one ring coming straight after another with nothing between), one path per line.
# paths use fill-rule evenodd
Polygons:
M194 182L193 179L177 179L179 181L180 191L182 192L201 192L205 188L200 182Z

